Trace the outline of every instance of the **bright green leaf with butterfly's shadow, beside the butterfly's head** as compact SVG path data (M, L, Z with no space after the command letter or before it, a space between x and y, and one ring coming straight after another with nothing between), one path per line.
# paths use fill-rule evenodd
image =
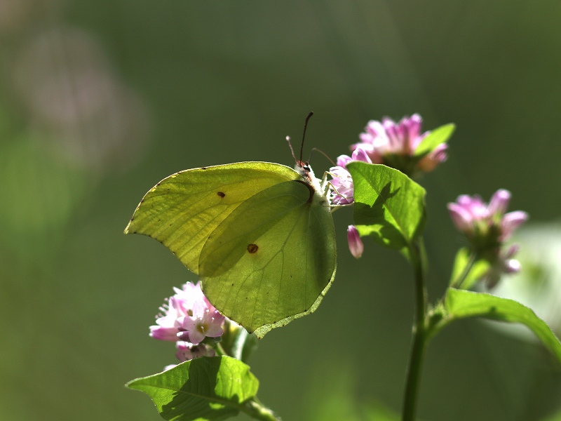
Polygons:
M354 222L360 235L388 248L410 246L425 225L425 189L381 164L355 161L347 168L353 176Z

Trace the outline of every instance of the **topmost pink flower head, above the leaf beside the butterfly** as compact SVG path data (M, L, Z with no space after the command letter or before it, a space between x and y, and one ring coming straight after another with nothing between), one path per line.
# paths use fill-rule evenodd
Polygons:
M351 145L351 151L362 148L373 163L384 163L405 174L418 171L433 171L447 159L447 145L441 143L420 159L415 156L417 147L430 133L421 133L423 119L419 114L404 116L398 123L384 117L382 121L371 120L360 133L360 142Z

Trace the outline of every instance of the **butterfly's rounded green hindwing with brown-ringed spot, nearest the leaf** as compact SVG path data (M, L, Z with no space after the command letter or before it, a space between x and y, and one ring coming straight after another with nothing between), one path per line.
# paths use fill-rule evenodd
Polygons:
M334 279L333 219L304 182L273 185L241 203L201 251L203 291L262 337L313 312Z

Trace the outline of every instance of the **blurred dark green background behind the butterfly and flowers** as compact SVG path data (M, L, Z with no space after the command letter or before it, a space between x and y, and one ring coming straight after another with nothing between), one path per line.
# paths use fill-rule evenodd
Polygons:
M0 0L0 420L160 419L123 384L175 363L148 326L196 279L123 229L175 171L292 166L284 138L299 139L310 110L306 149L333 159L369 119L457 123L450 159L421 180L433 300L461 245L445 208L458 194L503 187L511 210L558 219L560 22L558 1ZM412 275L372 241L354 260L351 216L334 214L339 267L318 311L250 361L283 420L360 419L357 402L400 410ZM544 420L560 407L560 371L540 347L477 321L431 342L423 420Z

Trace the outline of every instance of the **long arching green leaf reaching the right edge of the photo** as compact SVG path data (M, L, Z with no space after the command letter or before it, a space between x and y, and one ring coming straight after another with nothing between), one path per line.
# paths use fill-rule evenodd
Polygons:
M445 297L448 322L468 317L522 323L527 326L561 363L561 342L547 323L525 305L485 293L449 288Z

